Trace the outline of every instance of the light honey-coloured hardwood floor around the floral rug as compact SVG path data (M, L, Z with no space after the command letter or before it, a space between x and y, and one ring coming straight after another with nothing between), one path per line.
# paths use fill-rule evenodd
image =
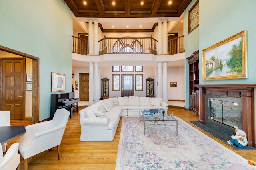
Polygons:
M198 117L188 110L168 108L168 113L173 112L184 121L198 121ZM11 125L29 125L29 121L11 121ZM62 158L58 160L57 147L51 151L45 151L30 158L29 170L114 170L116 166L116 154L120 138L122 117L113 141L80 141L80 117L74 112L68 120L61 143ZM190 124L191 125L191 124ZM198 129L196 127L196 129ZM142 129L143 130L143 129ZM200 129L199 129L200 130ZM200 130L201 131L201 130ZM204 133L204 131L202 131ZM256 160L256 150L237 151L228 144L219 141L215 137L205 133L228 149L240 154L247 160ZM17 138L18 139L18 138ZM7 147L17 139L8 142ZM21 156L20 170L24 169L24 161Z

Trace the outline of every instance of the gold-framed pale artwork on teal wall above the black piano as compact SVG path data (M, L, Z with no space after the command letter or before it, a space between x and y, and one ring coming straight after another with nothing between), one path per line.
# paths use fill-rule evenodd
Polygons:
M66 90L66 74L52 72L52 92Z

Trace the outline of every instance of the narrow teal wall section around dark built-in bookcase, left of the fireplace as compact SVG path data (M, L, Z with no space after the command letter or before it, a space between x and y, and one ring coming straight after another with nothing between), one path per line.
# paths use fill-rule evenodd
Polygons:
M185 58L190 57L193 52L199 49L199 27L188 34L188 11L196 3L197 0L192 0L189 6L184 11L183 17L183 33L184 33L184 49ZM185 60L185 107L189 107L189 82L188 82L188 60Z

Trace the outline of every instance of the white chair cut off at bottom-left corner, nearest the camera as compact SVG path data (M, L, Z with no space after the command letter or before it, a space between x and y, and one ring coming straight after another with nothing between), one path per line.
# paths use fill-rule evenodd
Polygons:
M20 169L20 154L18 153L18 143L10 146L5 155L0 152L0 170L16 170ZM0 147L0 151L2 147Z

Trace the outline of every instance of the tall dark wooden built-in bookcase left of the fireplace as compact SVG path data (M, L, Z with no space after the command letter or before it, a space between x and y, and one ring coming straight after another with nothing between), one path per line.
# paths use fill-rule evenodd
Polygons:
M199 51L187 58L189 64L189 109L199 116Z

